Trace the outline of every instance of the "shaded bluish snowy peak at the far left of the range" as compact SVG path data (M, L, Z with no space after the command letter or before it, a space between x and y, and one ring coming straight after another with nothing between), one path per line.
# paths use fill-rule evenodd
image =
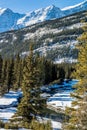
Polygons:
M0 32L13 30L17 28L17 20L24 15L14 13L8 8L0 8Z

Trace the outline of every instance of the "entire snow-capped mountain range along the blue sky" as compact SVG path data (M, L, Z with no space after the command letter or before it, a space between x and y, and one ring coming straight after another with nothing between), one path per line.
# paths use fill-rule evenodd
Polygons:
M32 24L62 18L70 14L87 10L87 0L75 6L60 9L54 5L41 8L27 14L14 13L8 8L0 8L0 32L20 29Z

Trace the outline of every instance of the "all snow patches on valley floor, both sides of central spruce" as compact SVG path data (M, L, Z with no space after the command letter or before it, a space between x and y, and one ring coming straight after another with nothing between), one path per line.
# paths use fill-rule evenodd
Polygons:
M76 84L77 80L72 80L67 82L66 80L58 85L54 84L51 86L43 86L41 90L43 94L42 97L48 98L47 105L60 108L65 110L66 106L71 106L72 98L70 97L70 93L74 91L72 86ZM13 92L10 91L9 93L5 94L3 97L0 97L0 120L7 122L17 110L18 99L22 96L22 92ZM40 117L38 117L40 118ZM41 118L42 119L42 118ZM40 121L41 121L40 119ZM49 120L49 118L43 118L44 121ZM62 123L60 121L50 119L53 130L61 130Z

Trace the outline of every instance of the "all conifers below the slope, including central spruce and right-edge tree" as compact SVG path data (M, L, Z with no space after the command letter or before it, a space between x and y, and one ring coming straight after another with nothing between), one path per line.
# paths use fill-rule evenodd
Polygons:
M33 46L29 47L29 55L22 58L16 55L4 59L0 56L0 95L10 90L22 90L17 112L10 123L0 122L6 129L27 128L32 130L51 130L51 122L40 123L37 115L42 116L49 111L46 99L40 97L41 86L60 84L64 79L78 79L71 96L75 99L71 108L66 108L63 130L87 130L87 26L78 38L78 62L74 64L54 64L38 54L33 53Z

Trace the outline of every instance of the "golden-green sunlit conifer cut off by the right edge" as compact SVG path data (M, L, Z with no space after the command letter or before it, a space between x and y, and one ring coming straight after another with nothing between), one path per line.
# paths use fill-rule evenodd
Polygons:
M70 119L65 123L63 130L87 130L87 26L79 38L79 56L76 72L73 76L79 80L72 94L75 101L72 108L67 109Z

